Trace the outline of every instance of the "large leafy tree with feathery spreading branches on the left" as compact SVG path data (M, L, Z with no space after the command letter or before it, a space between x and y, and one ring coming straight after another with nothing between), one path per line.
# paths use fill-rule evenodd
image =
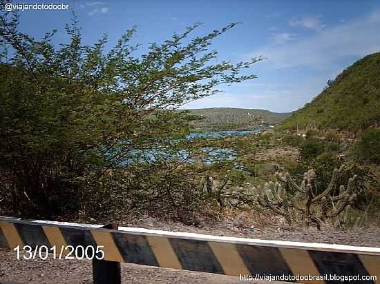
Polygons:
M197 173L186 163L196 152L185 139L191 116L176 109L254 79L241 71L260 60L211 64L211 41L236 23L184 43L196 23L140 57L134 28L105 52L106 36L82 43L75 14L60 45L57 30L37 41L18 25L16 12L1 14L0 204L18 214L109 210L120 196L135 205L177 185L189 190L184 176Z

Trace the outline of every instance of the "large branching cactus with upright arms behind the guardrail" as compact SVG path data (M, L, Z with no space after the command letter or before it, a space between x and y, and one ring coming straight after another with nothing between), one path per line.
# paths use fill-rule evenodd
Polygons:
M278 181L265 183L263 190L259 190L258 204L283 216L289 225L298 221L307 223L307 226L315 224L318 228L331 225L334 219L345 216L343 212L352 210L351 205L359 193L354 188L355 175L347 186L339 187L338 195L333 195L343 170L344 166L334 169L329 185L318 195L314 170L305 172L301 185L297 185L289 173L276 172Z

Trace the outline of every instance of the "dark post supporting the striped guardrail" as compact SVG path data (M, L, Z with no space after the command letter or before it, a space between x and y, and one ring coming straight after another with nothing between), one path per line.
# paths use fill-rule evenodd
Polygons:
M117 223L105 225L104 229L118 229ZM116 261L99 261L93 259L93 281L94 284L121 284L122 274L120 263Z

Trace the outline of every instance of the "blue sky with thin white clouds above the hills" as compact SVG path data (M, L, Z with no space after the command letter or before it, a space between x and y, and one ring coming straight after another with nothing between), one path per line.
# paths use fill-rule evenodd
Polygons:
M349 65L380 51L380 1L271 1L271 0L125 0L125 1L13 1L64 3L67 10L20 12L21 31L39 38L52 29L61 31L75 10L92 44L107 33L110 45L125 30L137 26L133 41L162 43L187 26L203 25L193 36L207 34L231 22L238 26L216 39L216 61L247 61L263 56L250 74L256 79L222 88L221 94L193 101L183 108L256 108L291 112L316 97Z

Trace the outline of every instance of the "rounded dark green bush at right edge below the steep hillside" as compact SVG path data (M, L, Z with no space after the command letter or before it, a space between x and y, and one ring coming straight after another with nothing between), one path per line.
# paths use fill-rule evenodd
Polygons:
M353 152L359 161L380 165L380 130L363 132L355 143Z

